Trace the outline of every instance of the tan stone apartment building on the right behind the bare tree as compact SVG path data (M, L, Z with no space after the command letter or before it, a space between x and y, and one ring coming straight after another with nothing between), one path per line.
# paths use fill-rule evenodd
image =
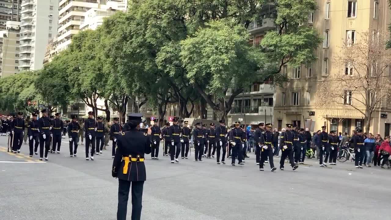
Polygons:
M304 25L312 26L323 35L323 45L315 51L318 59L309 67L283 68L282 74L290 79L277 88L273 123L279 130L286 123L298 123L303 128L305 122L315 131L327 125L329 131L352 133L355 127L365 128L363 115L349 105L317 108L319 81L333 74L344 74L334 62L344 42L352 38L360 40L363 32L386 30L391 22L390 9L386 0L317 0L317 4L317 10L308 16ZM389 135L389 112L389 107L382 106L381 112L376 110L372 114L370 132Z

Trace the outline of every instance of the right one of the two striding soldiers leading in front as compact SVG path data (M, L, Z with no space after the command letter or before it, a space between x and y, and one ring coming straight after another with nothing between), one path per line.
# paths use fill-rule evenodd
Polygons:
M294 133L291 131L292 124L287 124L285 132L281 133L280 136L280 148L282 150L281 160L280 160L280 170L284 170L285 158L288 157L289 163L292 166L292 170L296 170L299 166L294 164L293 159L293 141Z

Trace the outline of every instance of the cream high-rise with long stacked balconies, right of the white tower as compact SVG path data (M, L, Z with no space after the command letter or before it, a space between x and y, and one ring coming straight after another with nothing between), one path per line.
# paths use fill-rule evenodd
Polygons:
M59 3L57 50L61 51L71 43L72 36L80 30L87 11L90 9L117 9L126 11L126 0L61 0ZM106 15L106 16L109 16Z

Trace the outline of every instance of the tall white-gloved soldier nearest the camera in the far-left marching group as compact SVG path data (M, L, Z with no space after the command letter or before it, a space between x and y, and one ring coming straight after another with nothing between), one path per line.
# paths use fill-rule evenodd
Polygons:
M39 160L43 158L43 147L45 146L45 160L48 161L48 152L50 150L50 118L47 109L43 109L42 117L39 118Z

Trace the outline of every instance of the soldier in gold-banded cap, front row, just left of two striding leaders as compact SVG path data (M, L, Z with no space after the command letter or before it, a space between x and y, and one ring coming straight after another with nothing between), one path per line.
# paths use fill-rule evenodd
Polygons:
M246 132L243 132L242 128L240 128L240 122L235 122L235 128L231 130L230 133L230 144L232 145L232 162L231 165L235 166L235 159L238 157L238 162L240 165L243 165L242 162L242 151L243 151L243 142L242 140L246 137Z

